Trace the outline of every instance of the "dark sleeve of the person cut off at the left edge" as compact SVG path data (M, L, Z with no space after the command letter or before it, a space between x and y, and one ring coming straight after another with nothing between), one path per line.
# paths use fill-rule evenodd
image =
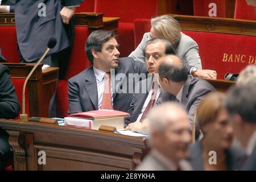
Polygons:
M19 102L9 70L0 64L0 118L13 119L19 114Z

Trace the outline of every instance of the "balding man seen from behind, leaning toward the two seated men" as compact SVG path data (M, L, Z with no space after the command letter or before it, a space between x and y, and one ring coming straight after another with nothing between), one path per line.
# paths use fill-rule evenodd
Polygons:
M191 122L201 100L215 90L208 81L187 75L185 64L175 55L162 57L156 64L155 73L159 75L159 84L165 91L162 101L179 102L188 111Z

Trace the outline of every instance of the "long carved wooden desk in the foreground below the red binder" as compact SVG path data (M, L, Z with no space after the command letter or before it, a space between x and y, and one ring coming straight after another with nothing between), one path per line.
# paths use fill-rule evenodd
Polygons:
M131 170L148 151L146 139L97 130L6 119L0 127L10 134L15 170Z

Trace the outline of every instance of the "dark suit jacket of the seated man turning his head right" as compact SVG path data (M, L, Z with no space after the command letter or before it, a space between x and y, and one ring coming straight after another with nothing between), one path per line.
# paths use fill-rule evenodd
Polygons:
M119 59L118 68L115 69L115 75L118 73L125 74L127 80L120 79L120 81L118 80L119 78L117 78L115 81L115 88L127 90L129 89L127 84L129 84L129 80L133 78L129 73L147 73L147 69L145 63L142 63L141 61L134 61L131 57L123 57ZM133 88L135 88L135 83ZM114 110L127 112L129 110L132 97L133 93L115 92L113 94ZM68 80L68 101L69 114L98 109L97 82L93 67L85 69Z

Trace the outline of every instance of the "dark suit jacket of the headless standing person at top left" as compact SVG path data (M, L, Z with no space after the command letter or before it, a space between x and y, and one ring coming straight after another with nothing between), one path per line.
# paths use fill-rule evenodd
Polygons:
M79 5L82 0L64 0L66 6ZM38 15L39 3L46 4L46 16ZM15 23L20 53L28 62L43 55L48 40L56 38L56 46L48 55L70 46L64 24L60 16L60 0L17 0L15 4Z

